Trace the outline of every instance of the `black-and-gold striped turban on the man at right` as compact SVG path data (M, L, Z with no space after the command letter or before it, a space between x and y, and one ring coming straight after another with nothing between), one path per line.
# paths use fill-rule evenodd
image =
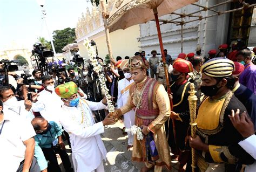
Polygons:
M226 58L213 58L208 60L200 71L209 77L228 77L232 75L234 63Z

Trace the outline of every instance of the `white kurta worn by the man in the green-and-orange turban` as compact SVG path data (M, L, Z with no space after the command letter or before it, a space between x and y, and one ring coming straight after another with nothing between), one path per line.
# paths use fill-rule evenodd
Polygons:
M102 102L80 99L77 107L63 105L59 122L69 133L75 171L89 172L99 167L106 157L106 148L99 134L102 122L95 123L92 111L106 108Z

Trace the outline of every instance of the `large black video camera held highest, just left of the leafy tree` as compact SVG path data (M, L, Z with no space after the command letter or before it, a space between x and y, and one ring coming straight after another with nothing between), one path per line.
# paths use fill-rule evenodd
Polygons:
M45 58L53 57L53 52L45 50L46 47L42 44L34 44L32 54L39 57L39 61L45 61Z

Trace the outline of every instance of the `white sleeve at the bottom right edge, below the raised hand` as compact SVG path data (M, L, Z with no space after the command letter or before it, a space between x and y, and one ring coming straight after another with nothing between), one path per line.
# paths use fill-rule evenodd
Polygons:
M248 154L250 154L256 160L256 135L251 135L245 140L238 143ZM256 171L256 161L246 166L245 171L255 172Z

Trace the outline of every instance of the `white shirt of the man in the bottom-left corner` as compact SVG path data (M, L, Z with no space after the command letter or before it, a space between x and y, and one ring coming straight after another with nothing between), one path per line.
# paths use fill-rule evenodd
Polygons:
M31 123L14 114L12 111L4 112L4 123L0 135L0 171L13 172L19 167L19 163L25 158L23 141L35 136L35 130Z

